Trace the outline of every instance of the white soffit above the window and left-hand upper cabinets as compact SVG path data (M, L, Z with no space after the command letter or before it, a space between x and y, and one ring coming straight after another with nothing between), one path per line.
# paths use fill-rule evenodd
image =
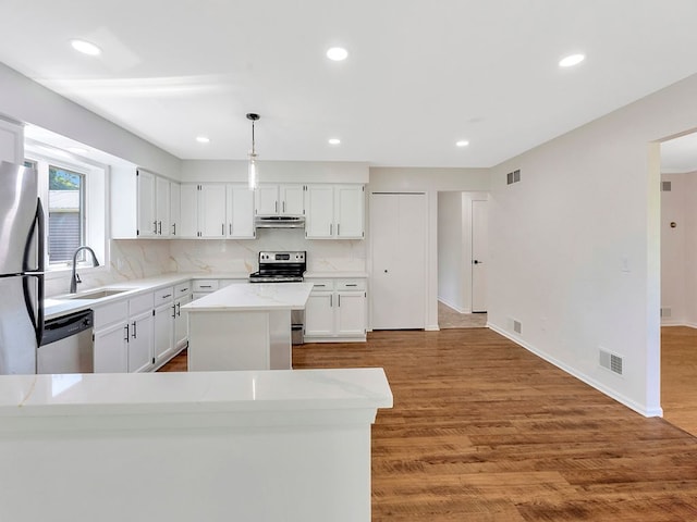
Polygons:
M180 160L0 63L0 114L32 123L174 179Z

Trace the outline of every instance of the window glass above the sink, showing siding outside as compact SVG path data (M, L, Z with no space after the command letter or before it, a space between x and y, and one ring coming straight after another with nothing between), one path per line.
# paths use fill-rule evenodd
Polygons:
M72 262L73 252L85 245L85 174L48 167L48 261ZM84 261L85 252L80 252Z

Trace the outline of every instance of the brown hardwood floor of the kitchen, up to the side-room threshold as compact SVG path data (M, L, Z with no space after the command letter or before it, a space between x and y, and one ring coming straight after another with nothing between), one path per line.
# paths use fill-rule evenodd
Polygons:
M372 520L697 520L697 438L645 419L492 331L304 345L302 368L382 366Z

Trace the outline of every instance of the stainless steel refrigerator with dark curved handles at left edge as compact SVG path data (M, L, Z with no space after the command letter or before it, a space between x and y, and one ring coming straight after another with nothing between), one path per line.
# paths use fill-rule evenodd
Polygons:
M44 331L44 210L34 169L0 163L0 374L36 373Z

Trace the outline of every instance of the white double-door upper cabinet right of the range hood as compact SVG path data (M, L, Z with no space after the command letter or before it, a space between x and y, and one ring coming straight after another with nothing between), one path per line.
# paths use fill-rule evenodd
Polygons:
M307 185L305 212L308 239L363 239L365 236L363 185Z

